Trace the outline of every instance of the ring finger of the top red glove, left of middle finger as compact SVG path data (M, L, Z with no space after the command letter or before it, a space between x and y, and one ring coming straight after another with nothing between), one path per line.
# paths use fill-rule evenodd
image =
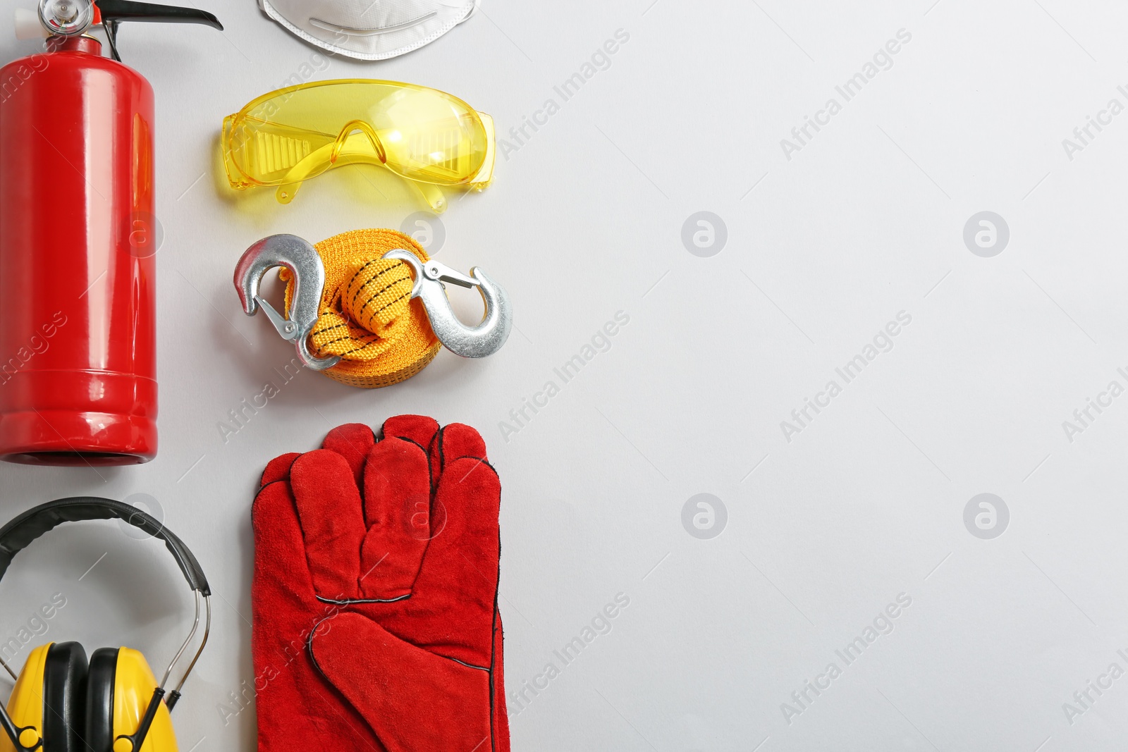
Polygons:
M290 484L318 595L355 598L364 519L352 468L341 454L319 449L294 460Z

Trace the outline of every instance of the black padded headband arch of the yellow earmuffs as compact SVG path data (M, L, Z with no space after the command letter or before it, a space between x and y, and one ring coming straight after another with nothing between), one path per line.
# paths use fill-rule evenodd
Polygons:
M0 528L0 577L3 577L5 573L8 572L8 565L11 564L16 554L27 548L33 540L64 522L81 522L83 520L124 520L153 538L165 541L165 547L176 558L176 563L192 590L204 596L211 595L208 577L204 576L200 563L196 561L196 557L184 545L184 541L135 506L97 496L77 496L47 502L24 512Z

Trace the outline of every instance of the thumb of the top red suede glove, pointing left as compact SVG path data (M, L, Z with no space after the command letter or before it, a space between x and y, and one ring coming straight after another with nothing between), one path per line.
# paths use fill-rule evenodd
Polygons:
M490 673L415 647L358 613L323 621L314 662L388 752L485 752Z

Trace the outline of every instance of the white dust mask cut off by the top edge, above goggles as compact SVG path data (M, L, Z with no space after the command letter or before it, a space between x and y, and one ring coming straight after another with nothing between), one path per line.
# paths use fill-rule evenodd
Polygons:
M258 0L267 16L329 52L386 60L455 28L481 0Z

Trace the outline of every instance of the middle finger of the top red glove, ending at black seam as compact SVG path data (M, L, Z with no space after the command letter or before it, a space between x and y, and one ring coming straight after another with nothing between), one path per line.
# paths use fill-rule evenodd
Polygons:
M431 538L431 475L421 446L385 436L364 466L361 596L409 595Z

